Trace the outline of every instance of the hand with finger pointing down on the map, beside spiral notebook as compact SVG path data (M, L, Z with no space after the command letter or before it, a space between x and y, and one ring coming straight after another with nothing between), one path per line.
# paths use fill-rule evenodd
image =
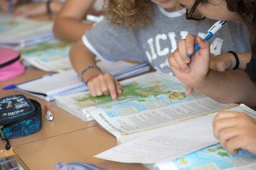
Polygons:
M112 99L116 99L117 94L122 94L122 86L109 73L93 77L88 81L87 87L93 97L110 94Z

